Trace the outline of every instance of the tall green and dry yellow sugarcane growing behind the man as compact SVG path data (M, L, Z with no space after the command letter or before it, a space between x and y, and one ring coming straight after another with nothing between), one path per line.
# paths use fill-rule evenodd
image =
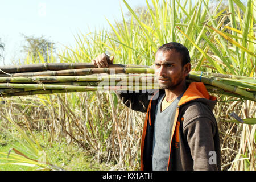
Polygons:
M141 14L123 2L131 14L129 21L123 15L122 22L108 21L110 32L77 33L76 47L61 51L60 61L89 62L106 52L115 56L114 63L152 65L158 47L176 41L189 49L193 71L255 78L254 0L246 5L230 0L226 9L221 9L220 1L214 11L209 10L209 1L204 0L146 0L147 7ZM28 57L27 61L44 60ZM232 112L242 119L256 118L255 102L216 96L214 115L220 130L222 169L255 170L256 126L227 122L234 119L229 115ZM50 141L65 137L98 162L110 164L111 169L139 169L145 115L127 109L114 93L51 94L4 100L14 121L20 125L30 123L24 130L48 130ZM6 121L3 115L1 119Z

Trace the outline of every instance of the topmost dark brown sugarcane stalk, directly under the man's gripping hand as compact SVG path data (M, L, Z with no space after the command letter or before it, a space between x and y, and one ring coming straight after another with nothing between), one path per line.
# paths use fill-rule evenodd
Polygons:
M133 64L109 64L109 68L150 68L144 65ZM40 63L40 64L24 64L10 65L0 67L2 73L22 73L22 72L41 72L41 71L57 71L64 69L82 69L96 68L92 63Z

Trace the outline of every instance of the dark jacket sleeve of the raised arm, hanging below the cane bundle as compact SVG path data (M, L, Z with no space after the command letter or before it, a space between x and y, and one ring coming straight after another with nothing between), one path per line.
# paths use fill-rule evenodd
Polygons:
M154 93L154 90L150 90L150 92L142 90L139 93L115 92L115 94L117 94L117 96L123 102L123 104L125 104L127 107L129 107L132 110L140 111L143 113L147 112L147 107L153 93Z

